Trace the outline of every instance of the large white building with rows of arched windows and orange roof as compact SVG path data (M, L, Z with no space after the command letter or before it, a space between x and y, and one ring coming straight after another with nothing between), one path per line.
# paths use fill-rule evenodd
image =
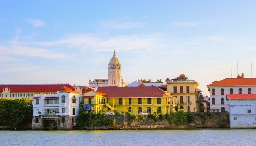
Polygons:
M244 78L244 74L237 78L225 78L207 85L210 92L210 111L229 112L227 94L256 93L256 78Z

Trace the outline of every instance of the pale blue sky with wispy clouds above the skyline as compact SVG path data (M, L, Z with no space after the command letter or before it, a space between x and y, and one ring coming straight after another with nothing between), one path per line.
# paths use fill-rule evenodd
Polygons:
M0 84L256 77L255 0L0 0Z

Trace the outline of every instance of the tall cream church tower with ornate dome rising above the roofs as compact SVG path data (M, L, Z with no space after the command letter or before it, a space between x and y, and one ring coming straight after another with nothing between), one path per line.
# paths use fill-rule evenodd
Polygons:
M121 75L121 64L116 57L116 51L114 51L113 57L109 61L108 66L108 85L109 86L123 86L123 80Z

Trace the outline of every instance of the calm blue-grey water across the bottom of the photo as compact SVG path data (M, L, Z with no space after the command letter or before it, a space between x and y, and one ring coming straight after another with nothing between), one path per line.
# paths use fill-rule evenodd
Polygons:
M0 130L0 146L255 146L256 129Z

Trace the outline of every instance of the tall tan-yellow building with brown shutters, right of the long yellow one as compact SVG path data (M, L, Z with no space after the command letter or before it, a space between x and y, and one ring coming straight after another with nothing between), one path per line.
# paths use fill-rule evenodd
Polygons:
M181 74L179 77L167 81L167 92L177 98L177 110L185 112L199 112L199 98L196 93L196 88L199 84L194 80Z

